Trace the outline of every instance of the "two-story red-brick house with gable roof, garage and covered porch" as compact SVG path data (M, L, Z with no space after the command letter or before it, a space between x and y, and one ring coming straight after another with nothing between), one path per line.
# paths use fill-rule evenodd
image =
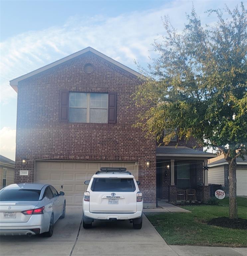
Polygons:
M88 47L10 81L18 92L15 182L50 183L67 204L81 204L84 181L100 167L126 167L146 205L174 200L176 187L209 196L204 165L215 155L177 136L170 147L146 138L131 95L138 72ZM157 169L156 169L157 167ZM20 170L27 170L22 172Z

